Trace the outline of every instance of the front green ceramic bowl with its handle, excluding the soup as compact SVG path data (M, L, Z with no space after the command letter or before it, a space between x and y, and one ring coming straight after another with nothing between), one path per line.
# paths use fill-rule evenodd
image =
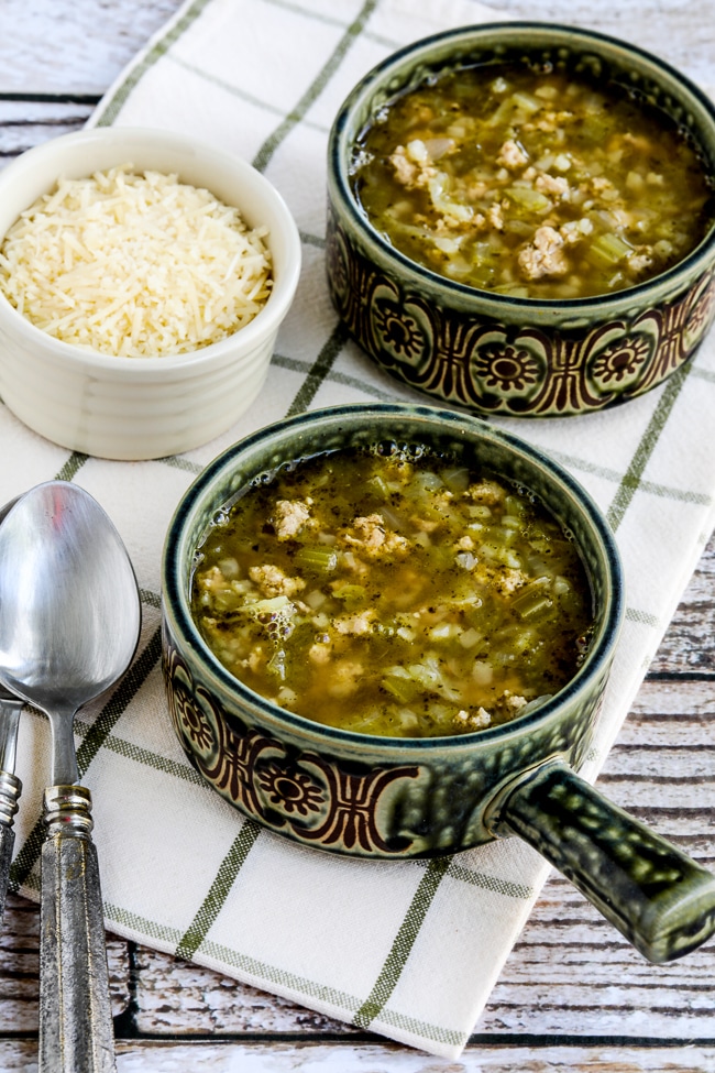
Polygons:
M284 467L342 447L427 446L526 489L575 541L594 627L571 681L512 722L460 736L377 737L293 714L233 677L191 616L212 524ZM268 426L191 484L162 565L163 666L176 734L198 771L245 815L304 846L397 861L518 835L650 960L715 929L715 877L596 792L575 770L588 749L624 610L613 536L585 491L519 438L431 407L344 406Z

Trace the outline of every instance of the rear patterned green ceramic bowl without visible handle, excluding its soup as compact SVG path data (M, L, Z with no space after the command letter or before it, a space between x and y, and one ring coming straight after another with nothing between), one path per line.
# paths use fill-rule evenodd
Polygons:
M536 22L448 31L391 55L338 112L328 151L328 283L360 347L413 387L477 413L585 414L660 384L702 341L715 314L712 222L688 256L648 282L542 300L476 289L421 266L372 226L352 189L360 139L393 99L446 70L524 59L625 87L672 117L712 183L713 103L636 45Z

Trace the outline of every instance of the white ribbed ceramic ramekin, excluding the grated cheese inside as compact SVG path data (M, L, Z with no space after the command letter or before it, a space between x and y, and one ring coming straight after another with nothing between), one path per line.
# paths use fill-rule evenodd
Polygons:
M30 428L63 447L112 459L177 455L226 431L253 403L300 273L300 239L283 198L245 161L168 131L98 128L23 153L0 173L0 237L63 176L132 164L177 173L265 225L274 286L233 336L193 353L112 358L62 342L0 295L0 394Z

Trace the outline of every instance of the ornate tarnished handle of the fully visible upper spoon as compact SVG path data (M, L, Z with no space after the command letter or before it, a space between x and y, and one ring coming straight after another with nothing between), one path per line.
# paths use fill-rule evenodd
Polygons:
M40 1073L113 1073L114 1038L91 797L45 790L40 916Z

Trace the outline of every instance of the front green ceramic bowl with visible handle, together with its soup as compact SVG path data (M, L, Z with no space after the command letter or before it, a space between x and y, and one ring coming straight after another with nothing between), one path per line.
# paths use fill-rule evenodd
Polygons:
M399 405L261 429L187 491L162 584L175 731L245 815L383 860L518 834L653 961L715 928L715 877L575 774L622 567L518 437Z

